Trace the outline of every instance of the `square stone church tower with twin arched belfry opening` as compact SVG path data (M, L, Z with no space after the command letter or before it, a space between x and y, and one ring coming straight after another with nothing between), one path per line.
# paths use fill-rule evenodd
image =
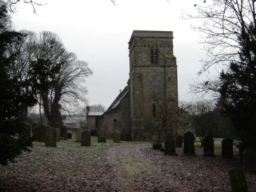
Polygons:
M176 57L173 55L173 32L133 31L129 41L130 114L132 138L151 139L156 106L153 94L172 97L178 104ZM173 127L173 134L177 129Z

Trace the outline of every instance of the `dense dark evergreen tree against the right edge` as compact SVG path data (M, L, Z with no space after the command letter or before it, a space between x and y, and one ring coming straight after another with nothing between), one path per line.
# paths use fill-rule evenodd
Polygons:
M256 149L256 29L253 24L239 35L240 62L231 62L220 75L223 113L232 120L246 147Z

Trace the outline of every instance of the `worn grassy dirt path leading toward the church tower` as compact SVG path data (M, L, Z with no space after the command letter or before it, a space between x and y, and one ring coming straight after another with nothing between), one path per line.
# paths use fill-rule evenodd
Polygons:
M147 144L120 145L107 152L113 169L112 186L116 191L175 191L175 182L146 159L142 149ZM172 186L172 187L171 187ZM179 186L181 189L181 187Z

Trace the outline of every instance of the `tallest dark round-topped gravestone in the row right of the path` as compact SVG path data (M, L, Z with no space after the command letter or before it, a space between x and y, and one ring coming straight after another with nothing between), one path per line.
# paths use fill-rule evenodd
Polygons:
M192 132L186 132L183 135L183 154L184 155L196 155L194 146L195 136Z

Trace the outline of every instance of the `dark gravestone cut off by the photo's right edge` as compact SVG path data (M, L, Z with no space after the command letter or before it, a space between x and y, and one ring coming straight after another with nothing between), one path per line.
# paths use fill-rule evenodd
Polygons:
M245 150L243 153L244 170L245 172L256 172L256 152L251 150Z

